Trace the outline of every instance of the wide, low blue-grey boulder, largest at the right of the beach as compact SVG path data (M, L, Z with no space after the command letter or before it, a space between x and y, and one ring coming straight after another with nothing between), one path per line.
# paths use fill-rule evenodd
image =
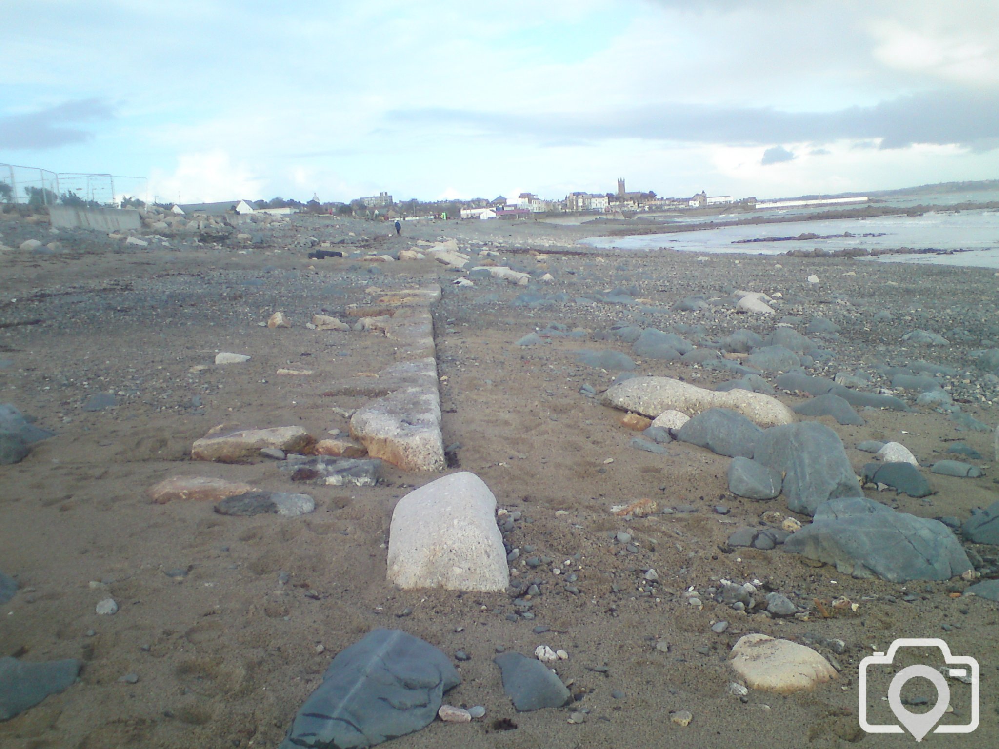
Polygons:
M830 499L784 543L854 577L891 582L949 580L972 568L954 533L937 520L895 512L865 497Z

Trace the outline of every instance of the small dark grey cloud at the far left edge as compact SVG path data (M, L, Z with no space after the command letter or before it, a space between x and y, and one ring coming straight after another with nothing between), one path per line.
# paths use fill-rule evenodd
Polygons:
M0 149L43 150L90 140L85 123L110 120L111 106L101 99L79 99L24 115L0 117Z

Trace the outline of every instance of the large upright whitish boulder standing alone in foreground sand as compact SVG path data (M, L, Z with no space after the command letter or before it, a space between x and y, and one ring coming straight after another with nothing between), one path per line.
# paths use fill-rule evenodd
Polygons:
M505 590L509 570L496 509L490 487L468 471L411 491L392 513L389 581L402 588Z

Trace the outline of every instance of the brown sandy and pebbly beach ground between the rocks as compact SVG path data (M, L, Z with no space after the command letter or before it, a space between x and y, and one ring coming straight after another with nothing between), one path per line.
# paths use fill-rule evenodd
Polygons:
M680 441L665 445L667 454L631 446L637 432L621 425L624 412L586 394L598 395L619 371L587 367L576 354L619 352L636 375L711 388L735 375L636 356L612 327L675 332L712 349L740 329L766 336L782 325L804 334L821 318L839 332L811 335L830 354L806 374L862 374L863 389L877 393L892 389L878 368L952 368L939 376L943 389L961 413L995 427L999 378L972 356L999 347L993 272L761 257L751 247L699 256L577 244L596 233L533 221L439 221L407 222L396 237L390 224L303 216L254 244L130 249L63 232L59 251L43 254L16 248L48 242L47 224L0 216L0 243L15 248L0 254L0 402L55 432L20 462L0 466L0 571L19 584L0 606L0 656L84 661L76 684L0 722L0 746L277 747L331 659L375 627L404 629L448 656L464 651L469 659L455 661L462 683L445 702L486 708L481 720L438 720L387 744L394 749L900 746L910 737L860 729L857 664L895 638L938 636L982 668L981 724L963 745L999 744L994 601L962 596L971 581L960 577L854 579L779 546L733 548L736 528L773 524L764 513L809 518L782 496L732 494L728 457ZM468 274L431 258L361 260L450 239L473 257L486 253L529 274L529 283L474 278L457 287ZM348 257L307 257L324 247ZM545 273L548 283L540 281ZM807 281L812 275L817 283ZM394 346L377 332L306 324L315 314L347 319L350 306L372 303L373 288L428 284L443 289L432 312L442 429L454 455L446 472L476 473L500 508L520 513L504 540L526 550L510 562L511 581L540 589L531 618L517 615L518 593L404 591L387 582L393 508L436 474L386 464L377 486L301 487L276 460L191 459L192 443L219 424L295 425L317 438L347 432L345 413L370 398L324 393L393 364ZM736 290L769 295L775 314L737 313ZM695 296L703 309L678 309ZM291 328L266 327L276 312ZM916 330L947 343L903 340ZM540 343L515 345L531 333ZM219 352L251 359L218 366ZM772 383L775 375L764 377ZM94 393L110 393L113 404L88 410ZM857 474L872 459L857 449L864 440L902 442L922 466L953 458L946 451L956 440L980 453L961 459L983 468L981 477L924 467L934 493L923 498L865 487L900 511L960 522L996 501L993 433L917 405L918 392L892 393L911 410L858 408L863 425L800 418L832 428ZM791 406L807 399L779 388L776 397ZM210 502L150 500L150 486L192 474L308 491L316 509L236 517ZM659 511L630 519L610 511L641 498ZM999 575L995 546L964 547L980 577ZM528 556L549 561L528 567ZM563 582L569 570L574 593ZM797 615L734 611L714 599L722 579L779 592ZM700 606L690 603L696 596ZM118 612L96 614L109 597ZM854 605L832 608L841 598ZM716 632L719 621L728 626ZM547 630L535 633L539 625ZM816 645L835 661L837 678L813 691L732 696L729 651L753 632L842 640L841 652ZM493 658L498 647L529 655L542 644L567 652L556 670L575 701L518 713ZM954 719L966 717L964 685L952 687L952 703ZM582 709L584 722L568 721ZM689 725L671 722L683 710ZM929 747L953 743L948 735L925 739Z

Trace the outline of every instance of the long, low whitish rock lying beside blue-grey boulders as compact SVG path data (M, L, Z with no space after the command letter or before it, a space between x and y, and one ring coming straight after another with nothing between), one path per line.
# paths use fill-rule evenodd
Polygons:
M708 408L730 408L762 426L793 423L794 411L775 397L734 389L707 390L672 377L632 377L611 385L601 396L604 405L655 418L666 410L695 415Z

